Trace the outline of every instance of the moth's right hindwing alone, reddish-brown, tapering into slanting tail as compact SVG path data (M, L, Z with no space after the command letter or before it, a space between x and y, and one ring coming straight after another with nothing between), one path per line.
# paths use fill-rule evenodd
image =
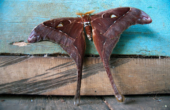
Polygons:
M106 73L109 77L110 83L114 90L115 97L119 102L123 102L124 96L117 89L116 84L113 80L111 71L110 71L110 66L109 66L111 52L112 52L113 48L115 47L115 45L117 44L118 40L119 40L119 37L115 38L114 40L113 39L110 40L110 39L106 39L103 35L99 34L97 30L93 31L93 41L94 41L97 51L99 52L101 59L102 59Z

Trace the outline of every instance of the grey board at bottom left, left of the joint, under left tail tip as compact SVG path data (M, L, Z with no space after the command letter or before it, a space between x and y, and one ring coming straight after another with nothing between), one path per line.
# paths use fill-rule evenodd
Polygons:
M4 100L1 102L1 100ZM108 110L100 97L81 97L80 106L73 97L0 96L0 110Z

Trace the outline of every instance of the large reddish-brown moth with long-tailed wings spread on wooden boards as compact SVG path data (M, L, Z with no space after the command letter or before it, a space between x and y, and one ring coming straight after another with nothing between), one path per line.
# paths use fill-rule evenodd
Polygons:
M85 36L94 42L109 77L116 99L124 101L117 89L109 60L121 33L135 24L149 24L152 19L145 12L132 7L120 7L92 15L94 11L77 13L80 17L57 18L45 21L35 27L28 37L29 43L49 40L59 44L77 65L77 89L74 104L80 103L82 65L86 49Z

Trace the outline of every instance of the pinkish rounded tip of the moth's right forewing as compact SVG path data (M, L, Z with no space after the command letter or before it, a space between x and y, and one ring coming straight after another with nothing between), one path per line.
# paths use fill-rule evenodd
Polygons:
M152 19L145 12L141 11L139 18L137 19L138 24L149 24L152 22Z

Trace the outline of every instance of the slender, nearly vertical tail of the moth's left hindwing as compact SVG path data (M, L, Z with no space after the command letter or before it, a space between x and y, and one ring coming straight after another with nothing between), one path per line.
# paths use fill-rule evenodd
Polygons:
M82 79L82 64L77 66L77 89L74 96L74 105L80 104L80 88L81 88L81 79Z

